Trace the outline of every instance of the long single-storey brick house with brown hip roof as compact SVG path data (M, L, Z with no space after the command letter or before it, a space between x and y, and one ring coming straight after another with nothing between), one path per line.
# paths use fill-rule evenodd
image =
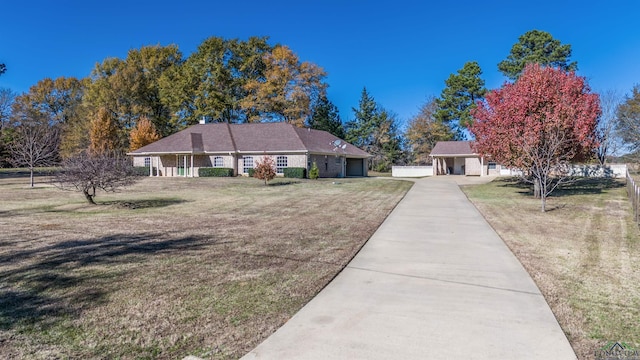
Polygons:
M315 162L321 177L367 176L370 155L320 130L287 123L227 124L200 122L128 153L134 166L150 176L198 176L200 168L230 168L248 175L264 156L273 157L276 172L306 168Z

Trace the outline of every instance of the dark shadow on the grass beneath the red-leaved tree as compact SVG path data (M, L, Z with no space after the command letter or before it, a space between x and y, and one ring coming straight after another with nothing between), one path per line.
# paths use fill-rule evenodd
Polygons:
M516 192L526 196L533 196L533 185L520 178L498 178L494 182L498 186L518 189ZM607 190L618 189L625 186L622 179L614 178L586 178L571 179L566 184L559 185L549 197L563 197L572 195L602 194Z

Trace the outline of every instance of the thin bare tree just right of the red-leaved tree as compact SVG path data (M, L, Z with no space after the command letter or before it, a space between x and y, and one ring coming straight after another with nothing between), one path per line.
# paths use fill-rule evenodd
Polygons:
M600 94L600 121L598 122L598 137L600 144L596 149L596 156L600 165L605 165L607 157L616 154L620 148L620 137L616 133L617 111L621 96L614 90L607 90Z

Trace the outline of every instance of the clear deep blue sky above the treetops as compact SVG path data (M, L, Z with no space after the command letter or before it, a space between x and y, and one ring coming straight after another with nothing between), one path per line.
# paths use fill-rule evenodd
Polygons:
M185 57L210 36L269 36L325 69L343 121L363 87L404 123L465 62L489 89L497 63L538 29L572 45L595 91L640 83L640 2L625 1L7 1L0 6L0 87L85 77L131 48L176 44Z

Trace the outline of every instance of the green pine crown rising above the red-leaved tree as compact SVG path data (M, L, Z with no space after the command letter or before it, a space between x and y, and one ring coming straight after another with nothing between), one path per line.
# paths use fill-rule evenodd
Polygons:
M527 64L575 71L578 63L569 62L570 57L571 45L560 43L548 32L531 30L518 38L507 58L498 64L498 70L511 80L516 80Z

